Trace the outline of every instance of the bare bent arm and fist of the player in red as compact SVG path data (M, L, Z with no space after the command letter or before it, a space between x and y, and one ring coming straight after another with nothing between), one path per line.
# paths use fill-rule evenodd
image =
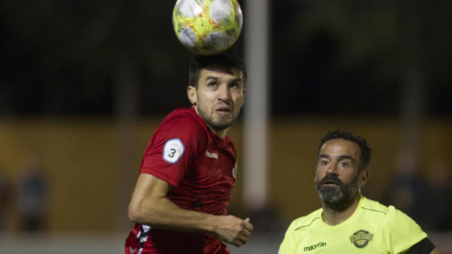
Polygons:
M141 173L128 207L129 219L174 231L208 232L235 246L245 244L250 238L253 225L249 219L179 208L166 197L169 189L170 185L165 181Z

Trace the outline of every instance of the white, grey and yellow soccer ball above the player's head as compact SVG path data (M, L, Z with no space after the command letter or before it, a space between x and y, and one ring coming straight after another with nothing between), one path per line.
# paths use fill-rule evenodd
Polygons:
M196 54L216 54L237 41L243 24L237 0L178 0L173 27L185 48Z

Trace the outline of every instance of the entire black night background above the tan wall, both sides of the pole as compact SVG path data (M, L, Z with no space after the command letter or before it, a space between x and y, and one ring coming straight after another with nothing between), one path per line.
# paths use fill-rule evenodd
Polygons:
M3 1L0 113L114 115L124 84L117 73L124 68L136 82L139 115L188 106L192 54L174 35L173 5ZM395 116L409 89L407 73L416 72L424 87L423 111L452 116L449 1L272 5L273 115Z

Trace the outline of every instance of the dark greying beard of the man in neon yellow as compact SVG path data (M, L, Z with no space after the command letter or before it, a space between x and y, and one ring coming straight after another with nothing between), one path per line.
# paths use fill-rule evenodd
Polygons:
M359 196L357 187L359 175L349 184L344 184L340 179L336 178L340 190L330 186L323 186L323 180L316 182L317 193L323 203L330 209L335 211L343 211L347 209L353 201Z

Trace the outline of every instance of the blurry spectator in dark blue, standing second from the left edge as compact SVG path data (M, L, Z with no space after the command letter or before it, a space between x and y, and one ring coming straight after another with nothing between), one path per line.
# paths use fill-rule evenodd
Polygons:
M18 209L21 227L41 231L46 225L47 182L39 159L28 158L18 180Z

